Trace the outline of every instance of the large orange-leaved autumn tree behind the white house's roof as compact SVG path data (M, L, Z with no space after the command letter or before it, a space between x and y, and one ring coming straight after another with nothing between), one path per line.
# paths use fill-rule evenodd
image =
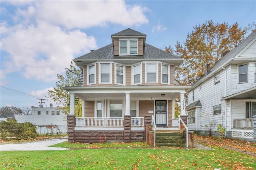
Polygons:
M223 57L225 51L236 47L245 36L255 31L255 23L242 29L238 23L214 23L208 20L202 25L193 27L182 44L177 41L174 47L165 47L172 53L184 59L175 73L175 84L179 86L192 85L205 73L206 64L210 68Z

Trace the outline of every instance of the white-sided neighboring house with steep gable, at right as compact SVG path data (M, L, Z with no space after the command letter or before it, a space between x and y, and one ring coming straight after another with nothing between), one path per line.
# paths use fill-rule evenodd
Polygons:
M189 130L204 134L212 124L212 132L218 135L220 124L226 128L228 137L253 139L256 32L222 57L186 92Z

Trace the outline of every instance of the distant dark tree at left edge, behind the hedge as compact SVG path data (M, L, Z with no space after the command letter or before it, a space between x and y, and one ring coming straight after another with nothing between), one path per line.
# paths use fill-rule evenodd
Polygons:
M22 115L22 109L14 106L6 106L0 109L0 117L15 119L15 115Z

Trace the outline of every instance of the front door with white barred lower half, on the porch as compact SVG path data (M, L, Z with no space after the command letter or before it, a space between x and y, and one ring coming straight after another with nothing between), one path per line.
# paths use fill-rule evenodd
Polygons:
M166 100L156 100L155 109L156 126L166 126Z

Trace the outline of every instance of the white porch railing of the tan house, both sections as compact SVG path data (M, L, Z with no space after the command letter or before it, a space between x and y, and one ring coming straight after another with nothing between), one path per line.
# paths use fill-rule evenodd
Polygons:
M78 127L123 127L123 117L76 117ZM144 127L144 117L132 117L132 127Z

